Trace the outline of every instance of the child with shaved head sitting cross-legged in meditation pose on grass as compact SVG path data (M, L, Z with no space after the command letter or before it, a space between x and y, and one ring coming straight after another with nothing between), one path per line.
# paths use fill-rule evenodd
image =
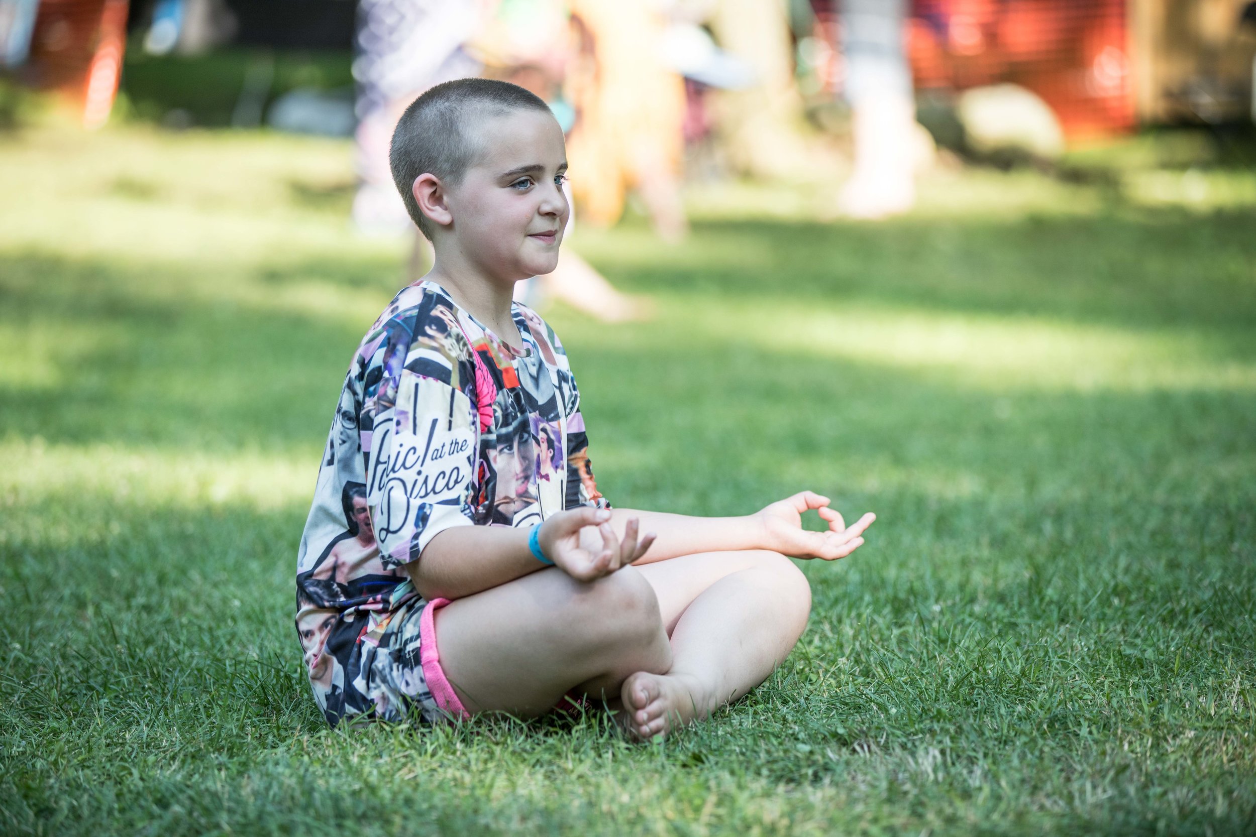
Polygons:
M436 259L353 356L301 537L296 627L328 722L588 696L652 738L754 689L810 611L785 556L844 557L873 516L845 527L811 492L746 517L610 508L563 345L512 301L558 261L558 122L522 88L450 82L407 108L391 161Z

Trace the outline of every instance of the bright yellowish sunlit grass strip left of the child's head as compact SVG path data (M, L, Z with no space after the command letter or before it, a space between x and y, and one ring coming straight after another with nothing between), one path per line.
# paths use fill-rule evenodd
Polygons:
M255 133L35 133L0 156L0 179L25 196L0 205L0 245L62 257L221 265L280 248L305 257L378 252L355 238L343 198L303 197L345 195L353 182L345 148L343 141L268 142Z

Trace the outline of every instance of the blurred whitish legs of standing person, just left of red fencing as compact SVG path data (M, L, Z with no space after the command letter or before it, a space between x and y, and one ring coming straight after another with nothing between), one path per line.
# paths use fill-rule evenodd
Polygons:
M918 158L907 0L842 0L840 13L855 154L838 206L857 218L906 212L916 202Z

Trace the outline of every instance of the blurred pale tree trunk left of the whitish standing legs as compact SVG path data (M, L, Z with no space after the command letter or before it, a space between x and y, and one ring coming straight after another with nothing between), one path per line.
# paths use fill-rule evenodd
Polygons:
M799 174L811 156L786 14L784 0L720 0L711 19L720 46L755 72L752 87L721 93L720 124L732 164L757 177Z

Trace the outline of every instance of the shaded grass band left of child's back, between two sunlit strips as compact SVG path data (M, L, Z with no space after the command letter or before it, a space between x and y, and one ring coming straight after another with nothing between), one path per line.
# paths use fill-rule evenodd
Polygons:
M0 312L31 361L0 385L3 432L55 443L317 445L369 325L136 287L176 281L168 267L10 259L0 270L57 277Z

